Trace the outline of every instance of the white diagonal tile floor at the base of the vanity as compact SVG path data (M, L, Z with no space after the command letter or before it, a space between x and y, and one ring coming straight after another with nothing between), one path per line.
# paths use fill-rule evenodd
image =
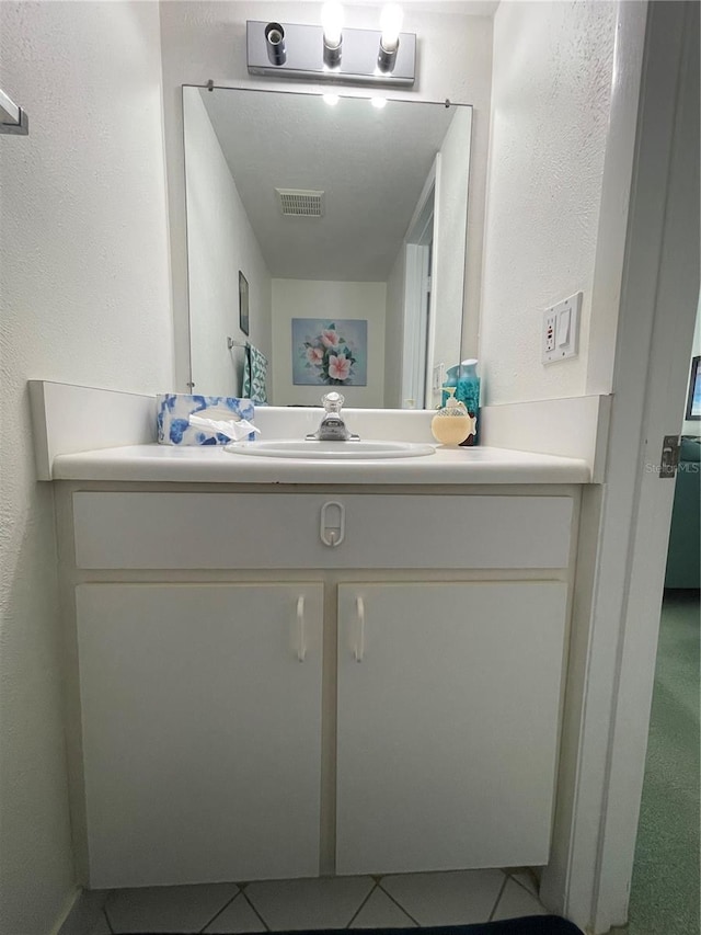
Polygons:
M543 915L528 870L114 890L90 935L460 925Z

